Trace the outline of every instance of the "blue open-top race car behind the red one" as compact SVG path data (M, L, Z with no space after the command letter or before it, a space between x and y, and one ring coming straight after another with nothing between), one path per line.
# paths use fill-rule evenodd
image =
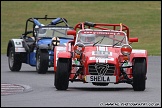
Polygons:
M50 20L50 23L44 23ZM22 63L35 66L39 74L45 74L49 67L54 67L54 48L65 46L73 40L67 34L73 30L65 18L29 18L26 21L25 32L19 39L10 39L7 46L9 69L20 71Z

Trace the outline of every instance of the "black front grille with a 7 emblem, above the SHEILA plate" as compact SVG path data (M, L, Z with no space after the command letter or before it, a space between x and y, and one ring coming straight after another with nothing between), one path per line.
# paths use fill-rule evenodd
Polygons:
M113 75L115 65L108 63L93 63L88 65L90 75Z

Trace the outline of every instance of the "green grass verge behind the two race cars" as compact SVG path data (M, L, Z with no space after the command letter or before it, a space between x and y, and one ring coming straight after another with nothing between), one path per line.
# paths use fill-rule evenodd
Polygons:
M161 55L161 1L1 1L1 54L9 39L19 38L29 17L64 17L69 25L84 21L123 23L136 49Z

